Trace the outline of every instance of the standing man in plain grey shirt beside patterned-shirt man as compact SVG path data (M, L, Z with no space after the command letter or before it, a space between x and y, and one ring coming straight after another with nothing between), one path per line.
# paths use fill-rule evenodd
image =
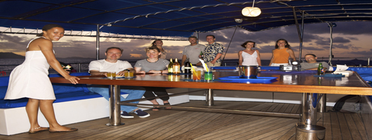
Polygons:
M200 55L200 52L204 51L206 46L198 44L197 43L198 38L196 36L190 36L189 41L190 41L190 45L185 46L182 52L181 67L183 66L183 64L185 64L185 61L187 58L190 59L190 63L193 66L201 66L199 55Z

